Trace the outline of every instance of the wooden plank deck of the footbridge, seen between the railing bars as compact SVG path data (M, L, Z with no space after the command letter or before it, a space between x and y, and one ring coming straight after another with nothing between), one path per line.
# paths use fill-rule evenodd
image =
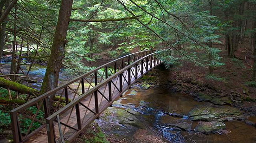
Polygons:
M152 62L152 68L155 67L157 63ZM148 66L148 70L151 68ZM135 71L134 67L131 68L132 71ZM142 67L141 64L138 66L138 79L142 76L141 73ZM146 68L143 67L143 74L145 74ZM133 72L135 74L135 72ZM131 72L131 84L136 82L135 75ZM119 76L114 78L112 80L113 82L111 83L111 91L112 91L112 100L116 100L120 97L120 92L116 87L119 88ZM128 71L126 70L123 73L122 77L122 82L123 82L123 91L127 90L129 88L129 85L127 83L128 81ZM116 87L114 86L116 85ZM104 87L101 87L99 92L101 92L105 97L108 97L109 91L108 91L108 86L107 84ZM105 99L101 94L98 93L98 103L99 103L99 113L103 112L109 105L109 102ZM93 112L96 111L95 109L95 102L94 102L94 94L91 94L91 96L87 96L84 100L81 101L82 104L86 105L88 108L93 109ZM96 117L94 116L94 113L85 108L82 105L79 105L79 110L80 110L80 116L81 116L81 123L82 126L87 126L89 125ZM76 114L76 109L72 108L72 110L69 110L68 112L62 114L60 116L60 122L66 124L65 126L62 124L61 125L61 132L63 134L63 137L65 140L69 140L69 138L77 132L77 114ZM69 127L67 127L67 125ZM72 129L73 127L73 129ZM76 129L74 129L76 128ZM56 140L58 141L60 138L59 134L59 125L56 120L54 122L54 129L55 129L55 137ZM34 134L32 137L29 138L29 140L25 141L25 143L48 143L48 138L47 138L47 129L46 127L42 128L39 132Z

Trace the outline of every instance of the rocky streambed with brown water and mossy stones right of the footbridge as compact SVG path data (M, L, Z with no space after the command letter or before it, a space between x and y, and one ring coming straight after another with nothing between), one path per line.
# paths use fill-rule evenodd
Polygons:
M133 87L97 122L108 138L127 143L256 142L256 117L159 87Z

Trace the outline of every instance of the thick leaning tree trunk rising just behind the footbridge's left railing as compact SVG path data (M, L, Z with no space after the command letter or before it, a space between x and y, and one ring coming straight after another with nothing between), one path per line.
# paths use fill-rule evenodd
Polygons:
M52 50L49 62L46 68L44 81L40 90L40 95L57 87L59 72L62 65L62 59L65 54L65 45L67 44L67 29L69 27L69 18L71 15L73 0L62 0L59 9L58 22L53 38ZM55 94L50 96L53 99ZM52 106L51 100L48 100L48 106Z

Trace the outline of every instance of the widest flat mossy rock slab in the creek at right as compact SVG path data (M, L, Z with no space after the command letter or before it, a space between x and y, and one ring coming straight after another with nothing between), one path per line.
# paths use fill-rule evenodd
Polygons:
M200 105L189 111L188 117L191 121L214 121L224 120L227 119L227 117L235 118L239 115L241 115L241 111L231 106Z

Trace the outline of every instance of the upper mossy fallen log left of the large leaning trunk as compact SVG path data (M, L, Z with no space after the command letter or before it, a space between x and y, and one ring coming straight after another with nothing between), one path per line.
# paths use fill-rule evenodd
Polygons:
M24 93L29 95L38 96L39 91L33 88L27 87L17 82L9 81L4 78L0 78L0 87L9 88L10 90L17 91L18 93Z

